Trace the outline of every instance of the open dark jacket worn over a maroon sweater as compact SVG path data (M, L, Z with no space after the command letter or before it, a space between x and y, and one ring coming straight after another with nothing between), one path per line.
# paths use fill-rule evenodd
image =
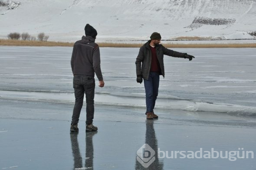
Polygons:
M152 54L149 46L150 42L151 40L149 40L143 46L141 46L138 57L135 62L137 76L142 75L143 78L145 78L146 80L148 80L149 72L151 69ZM167 49L163 45L159 44L158 46L156 46L156 54L157 54L158 62L161 69L161 75L164 76L164 55L184 58L185 53ZM141 62L142 62L142 66L141 66Z

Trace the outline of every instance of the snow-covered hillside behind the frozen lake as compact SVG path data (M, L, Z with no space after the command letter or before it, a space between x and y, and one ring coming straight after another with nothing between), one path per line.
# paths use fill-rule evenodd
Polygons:
M75 41L90 23L98 39L180 36L254 38L256 0L0 0L0 38L40 32Z

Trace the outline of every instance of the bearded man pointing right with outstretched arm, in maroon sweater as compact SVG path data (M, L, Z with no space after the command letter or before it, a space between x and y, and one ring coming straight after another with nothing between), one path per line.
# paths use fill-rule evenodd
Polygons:
M154 114L154 106L158 96L159 75L164 77L164 55L189 59L189 61L195 58L187 53L167 49L159 44L160 42L160 33L152 33L150 40L141 46L135 62L137 82L142 83L144 79L147 119L158 118L158 115Z

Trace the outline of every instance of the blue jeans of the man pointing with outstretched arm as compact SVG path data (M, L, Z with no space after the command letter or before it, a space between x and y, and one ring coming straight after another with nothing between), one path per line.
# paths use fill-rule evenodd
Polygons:
M146 113L148 113L153 111L155 101L158 97L159 73L150 72L148 80L144 79L144 87L146 92Z

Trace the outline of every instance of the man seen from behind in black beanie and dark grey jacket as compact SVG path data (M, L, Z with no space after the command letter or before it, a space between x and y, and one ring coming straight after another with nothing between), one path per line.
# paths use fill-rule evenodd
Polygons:
M100 67L100 52L95 43L97 31L89 24L85 26L85 36L75 42L71 57L71 68L74 75L73 88L75 90L75 106L73 109L70 132L78 132L78 121L86 97L86 131L98 131L98 127L92 124L94 117L94 91L96 74L99 87L104 87L102 71Z

